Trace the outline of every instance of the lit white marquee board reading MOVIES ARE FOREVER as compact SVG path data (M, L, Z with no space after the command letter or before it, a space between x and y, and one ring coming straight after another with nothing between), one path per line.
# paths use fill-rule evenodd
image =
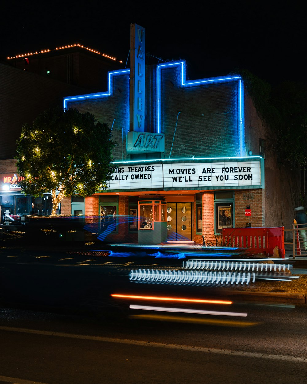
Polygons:
M117 166L109 189L211 189L261 187L260 161L162 163Z

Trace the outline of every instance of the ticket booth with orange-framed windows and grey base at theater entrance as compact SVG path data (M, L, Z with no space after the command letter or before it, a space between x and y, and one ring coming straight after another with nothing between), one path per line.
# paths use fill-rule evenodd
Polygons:
M167 242L166 201L139 200L138 242L160 244Z

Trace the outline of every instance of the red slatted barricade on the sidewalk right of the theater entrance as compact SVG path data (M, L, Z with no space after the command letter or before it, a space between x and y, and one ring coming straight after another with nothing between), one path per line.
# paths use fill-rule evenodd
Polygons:
M275 228L223 228L223 243L229 247L249 248L251 252L273 256L276 245L285 258L284 227Z

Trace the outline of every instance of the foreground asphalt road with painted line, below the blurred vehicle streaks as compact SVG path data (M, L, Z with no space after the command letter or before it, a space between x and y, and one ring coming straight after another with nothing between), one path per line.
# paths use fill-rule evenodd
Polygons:
M305 383L305 306L234 310L248 316L195 323L195 316L111 320L2 308L0 382Z

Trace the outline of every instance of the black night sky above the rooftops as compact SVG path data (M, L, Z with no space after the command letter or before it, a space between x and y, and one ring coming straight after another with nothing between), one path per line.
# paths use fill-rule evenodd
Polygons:
M184 59L190 79L244 68L270 83L306 81L303 2L13 0L1 14L2 58L80 43L126 63L137 23L147 63Z

